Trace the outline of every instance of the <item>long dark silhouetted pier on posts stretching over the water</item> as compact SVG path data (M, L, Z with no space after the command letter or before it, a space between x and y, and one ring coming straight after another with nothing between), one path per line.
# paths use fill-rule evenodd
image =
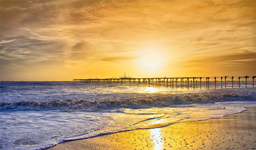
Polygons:
M256 76L213 76L213 77L153 77L153 78L133 78L133 77L120 77L120 78L108 78L108 79L73 79L73 81L79 81L83 83L138 83L138 84L147 84L155 86L167 86L172 88L202 88L202 81L205 79L206 88L217 88L217 82L220 82L221 88L227 88L227 82L231 82L230 87L234 88L234 82L238 82L238 88L241 87L241 83L248 87L247 79L252 78L252 84L250 87L254 87L254 78ZM224 81L223 81L224 78ZM214 86L210 86L210 79L213 79ZM220 79L220 81L218 81ZM227 81L231 79L231 81ZM234 81L238 79L238 81ZM241 81L240 79L245 79ZM199 82L199 84L198 84Z

